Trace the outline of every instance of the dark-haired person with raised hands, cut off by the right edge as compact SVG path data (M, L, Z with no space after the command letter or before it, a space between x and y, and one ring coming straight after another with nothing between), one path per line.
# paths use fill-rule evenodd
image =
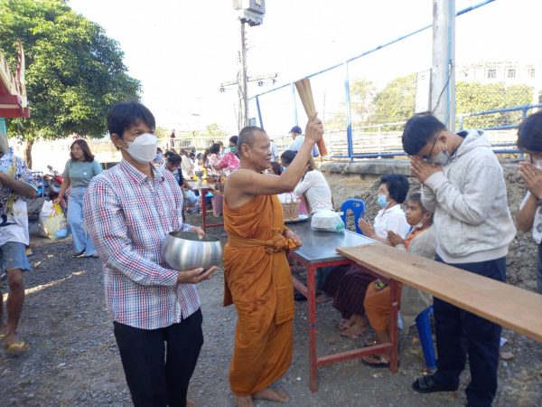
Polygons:
M518 147L528 154L528 159L519 163L519 176L527 186L527 194L519 205L516 221L521 232L532 230L537 242L537 291L542 294L542 111L523 120Z

